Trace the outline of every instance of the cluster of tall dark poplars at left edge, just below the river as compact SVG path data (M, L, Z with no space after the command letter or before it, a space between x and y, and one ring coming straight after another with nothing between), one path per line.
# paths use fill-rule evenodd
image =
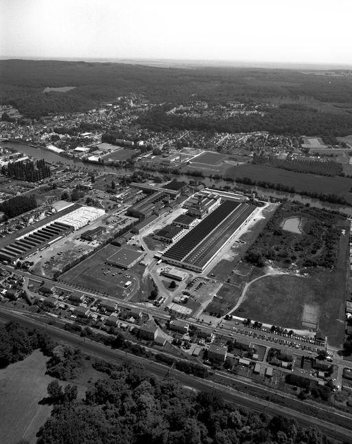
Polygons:
M29 182L36 182L51 175L50 166L45 163L44 159L36 160L35 162L32 160L27 162L9 162L7 165L1 166L1 174Z

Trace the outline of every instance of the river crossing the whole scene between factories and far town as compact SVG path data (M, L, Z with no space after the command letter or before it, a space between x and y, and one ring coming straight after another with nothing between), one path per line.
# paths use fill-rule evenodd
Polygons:
M13 142L0 142L0 146L5 146L7 148L12 148L19 153L26 154L34 157L35 159L45 159L46 162L50 162L51 164L60 163L68 166L75 166L76 168L85 168L85 170L89 170L91 172L104 171L106 173L117 173L119 175L131 175L131 170L125 168L116 168L115 166L106 166L100 164L88 164L86 162L82 162L78 159L70 159L69 157L63 157L54 153L53 151L45 150L43 148L35 148L34 146L29 146L25 144L17 144ZM157 173L157 171L152 172L153 175L164 177L164 173ZM169 175L173 179L177 179L179 181L188 181L190 180L199 180L206 186L212 188L220 188L224 186L230 186L233 190L235 188L235 184L230 181L224 181L222 179L210 179L210 177L190 177L187 175ZM257 195L263 197L275 197L278 200L288 199L289 201L299 201L301 203L309 203L310 206L315 208L326 208L327 210L336 210L340 212L344 212L349 217L352 217L352 207L340 206L336 203L322 202L319 199L311 199L311 197L305 197L294 193L281 192L276 190L270 190L267 188L261 188L258 186L248 186L239 184L236 188L241 188L242 190L248 190L248 192L255 191Z

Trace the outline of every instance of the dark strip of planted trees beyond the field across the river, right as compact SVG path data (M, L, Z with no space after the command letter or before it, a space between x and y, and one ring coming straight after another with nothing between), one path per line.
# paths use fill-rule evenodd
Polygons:
M335 177L342 174L342 164L332 160L322 162L314 159L289 159L283 160L278 157L257 155L254 153L253 163L256 165L275 166L283 170L296 173L311 173L321 176Z

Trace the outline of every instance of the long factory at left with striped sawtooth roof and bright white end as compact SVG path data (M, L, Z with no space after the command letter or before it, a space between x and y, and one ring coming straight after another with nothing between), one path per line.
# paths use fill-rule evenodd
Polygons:
M44 249L66 236L69 232L84 227L105 213L101 208L78 206L65 208L50 217L34 224L32 230L25 228L17 236L8 236L0 245L0 260L14 263L19 258ZM36 225L36 226L35 226Z

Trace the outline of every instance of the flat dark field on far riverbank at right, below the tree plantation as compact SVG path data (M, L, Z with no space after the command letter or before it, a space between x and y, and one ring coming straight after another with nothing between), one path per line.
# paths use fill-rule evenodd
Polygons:
M347 177L322 177L254 164L232 166L228 169L227 176L232 179L236 179L236 177L249 177L256 181L283 184L294 187L297 192L308 191L318 194L336 194L344 196L348 201L352 202L352 194L349 192L352 187L352 179Z

